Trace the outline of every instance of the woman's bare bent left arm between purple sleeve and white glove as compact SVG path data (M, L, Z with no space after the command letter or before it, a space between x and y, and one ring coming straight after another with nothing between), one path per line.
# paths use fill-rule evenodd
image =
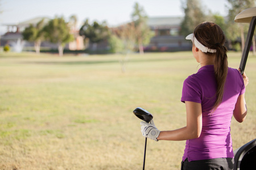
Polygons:
M158 140L183 141L200 137L202 130L202 107L200 103L185 101L187 126L184 128L161 131Z

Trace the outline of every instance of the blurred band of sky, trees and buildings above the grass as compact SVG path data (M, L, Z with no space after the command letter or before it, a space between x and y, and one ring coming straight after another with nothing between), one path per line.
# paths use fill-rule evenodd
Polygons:
M245 8L254 7L255 1L1 0L0 5L1 46L6 46L5 50L59 52L62 56L64 50L64 53L190 50L191 44L184 36L204 21L219 24L228 39L226 46L241 50L248 25L234 23L234 17ZM253 42L255 46L255 39ZM253 45L251 48L255 53Z

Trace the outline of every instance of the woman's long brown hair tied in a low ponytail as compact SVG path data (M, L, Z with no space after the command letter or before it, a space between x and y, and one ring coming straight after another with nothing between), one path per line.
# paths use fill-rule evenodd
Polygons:
M207 53L209 57L215 55L214 73L217 82L216 101L213 105L213 110L215 110L222 101L228 74L228 57L226 55L228 49L224 46L225 35L222 29L213 22L199 24L195 28L194 35L204 46L216 49L216 53Z

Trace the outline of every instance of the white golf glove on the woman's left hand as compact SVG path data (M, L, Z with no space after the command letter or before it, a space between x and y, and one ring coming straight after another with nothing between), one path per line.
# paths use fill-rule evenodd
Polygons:
M156 128L153 120L150 121L150 124L141 122L141 132L144 137L158 141L156 138L158 138L160 130Z

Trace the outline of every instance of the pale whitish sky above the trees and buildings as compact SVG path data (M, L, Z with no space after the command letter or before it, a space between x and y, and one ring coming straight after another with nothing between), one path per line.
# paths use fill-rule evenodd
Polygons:
M139 3L147 16L184 16L181 2L185 0L0 0L0 33L6 32L5 24L17 24L26 20L46 16L76 15L81 25L85 19L90 22L106 21L115 26L131 20L134 4ZM226 0L200 0L202 7L226 16ZM79 26L80 26L79 25Z

